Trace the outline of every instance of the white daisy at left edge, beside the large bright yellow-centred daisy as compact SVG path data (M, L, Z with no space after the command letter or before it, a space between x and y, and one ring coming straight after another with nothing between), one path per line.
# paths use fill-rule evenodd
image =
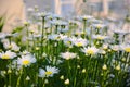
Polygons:
M0 53L0 58L1 59L13 59L16 57L15 52L12 52L11 50L6 51L6 52L1 52Z

